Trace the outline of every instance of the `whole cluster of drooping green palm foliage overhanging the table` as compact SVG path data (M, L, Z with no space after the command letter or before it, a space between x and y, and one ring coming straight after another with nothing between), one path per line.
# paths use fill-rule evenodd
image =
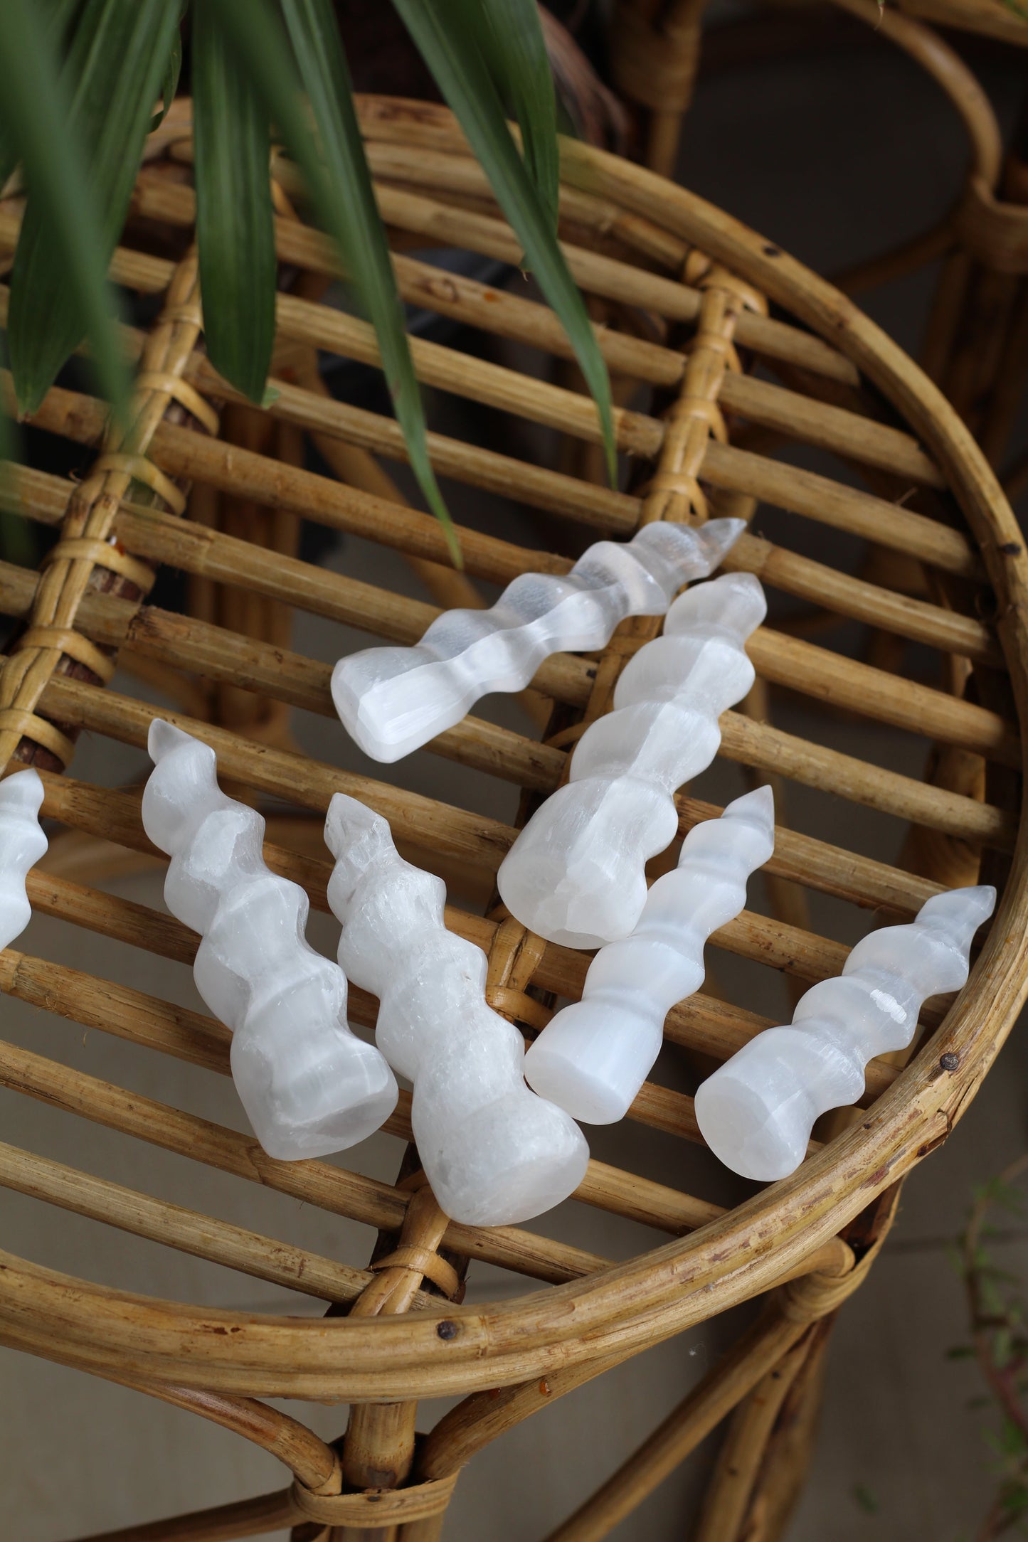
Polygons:
M145 134L160 122L177 86L183 3L5 3L0 171L22 159L29 187L9 319L11 367L23 412L35 410L83 333L106 393L119 402L128 399L103 270L123 224ZM556 241L555 100L535 0L395 3L490 177L526 265L572 341L598 406L613 476L610 384ZM211 356L233 384L260 399L274 328L271 117L304 170L314 207L375 325L412 467L459 566L427 453L404 311L331 0L196 0L193 9L197 233ZM68 32L59 76L60 48L54 45ZM159 94L163 111L153 117ZM519 123L524 154L506 108Z

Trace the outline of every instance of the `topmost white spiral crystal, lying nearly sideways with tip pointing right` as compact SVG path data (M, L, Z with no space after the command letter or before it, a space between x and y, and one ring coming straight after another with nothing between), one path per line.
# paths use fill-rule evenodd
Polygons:
M706 578L744 529L657 521L627 544L596 541L564 577L521 574L489 611L445 611L416 648L367 648L331 677L348 734L376 760L427 743L489 691L519 691L558 651L603 648L629 615L663 615L674 594Z

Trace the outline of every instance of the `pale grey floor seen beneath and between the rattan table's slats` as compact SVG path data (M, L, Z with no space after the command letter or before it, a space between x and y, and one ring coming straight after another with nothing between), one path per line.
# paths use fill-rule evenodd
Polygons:
M1019 89L1014 62L994 59L985 74L1008 123ZM962 156L960 136L936 93L882 43L778 59L703 80L683 154L683 179L831 271L911 234L945 208L959 187ZM928 278L911 281L874 296L868 308L915 348L928 293ZM761 529L774 534L774 521L764 520ZM331 560L356 577L398 588L405 581L390 557L358 543ZM331 658L350 645L341 641L338 628L305 620L296 646ZM516 708L502 703L499 711L510 714ZM777 720L800 732L805 728L805 719L792 709ZM344 765L359 760L341 729L299 717L296 731L305 748L325 759ZM818 732L825 737L823 722ZM834 725L831 734L840 748L860 746L883 765L917 773L920 749L899 736L852 725ZM142 769L142 757L111 756L109 746L96 740L83 743L76 763L80 776L109 782L128 780ZM509 788L438 759L419 756L393 769L396 780L447 800L489 808L499 817L513 811ZM731 796L732 773L714 769L700 791ZM860 848L885 859L897 854L900 834L888 820L860 814L854 834L849 806L815 797L795 802L798 822L811 833L832 839L845 819L848 839ZM111 887L160 905L154 874ZM818 925L854 941L866 921L848 907L826 905L823 914L818 908ZM313 925L311 941L331 947L331 927L324 917ZM173 999L196 1001L186 970L59 922L35 919L25 950ZM783 1005L771 999L774 982L755 965L747 970L721 958L718 967L738 999L760 1004L764 1012ZM219 1078L100 1033L85 1035L17 1002L3 1001L0 1016L5 1038L14 1042L244 1127L231 1086ZM945 1359L946 1348L965 1337L960 1281L948 1263L946 1244L962 1227L973 1184L1025 1147L1026 1058L1023 1033L1016 1032L954 1138L912 1175L891 1244L842 1317L831 1351L815 1470L789 1542L959 1542L974 1536L993 1479L980 1434L983 1414L966 1406L980 1391L976 1372L965 1362ZM667 1078L675 1075L670 1066ZM367 1255L367 1232L354 1224L193 1170L190 1163L137 1143L129 1146L111 1132L26 1099L0 1098L0 1130L15 1144L321 1252L347 1260ZM595 1149L606 1160L620 1158L653 1177L684 1181L711 1198L732 1195L731 1183L704 1152L683 1155L681 1146L653 1132L635 1126L603 1132ZM347 1158L368 1173L391 1178L396 1144L375 1138ZM683 1160L689 1163L684 1175ZM627 1257L660 1240L581 1206L566 1206L539 1224L610 1257ZM247 1283L217 1266L2 1190L0 1238L15 1254L128 1289L234 1308L304 1311L297 1297L271 1286ZM1028 1234L1014 1226L997 1252L1011 1269L1023 1269ZM469 1300L509 1291L510 1280L499 1271L475 1269ZM310 1309L319 1308L311 1301ZM462 1476L447 1537L521 1542L544 1536L681 1399L737 1328L731 1320L706 1325L522 1425ZM422 1426L445 1406L425 1406ZM3 1542L60 1542L282 1485L282 1468L233 1436L45 1362L0 1352L0 1408L6 1414L0 1439ZM344 1409L291 1405L291 1411L330 1437L345 1420ZM618 1542L683 1537L683 1517L692 1513L709 1454L698 1453L626 1520L613 1533Z

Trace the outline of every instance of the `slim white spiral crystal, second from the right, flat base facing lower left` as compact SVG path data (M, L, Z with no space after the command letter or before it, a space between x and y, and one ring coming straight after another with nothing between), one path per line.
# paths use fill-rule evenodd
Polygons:
M694 825L635 931L596 953L583 999L558 1012L529 1049L524 1072L538 1093L589 1124L624 1118L660 1053L664 1018L703 984L704 942L738 916L746 879L774 845L768 786Z

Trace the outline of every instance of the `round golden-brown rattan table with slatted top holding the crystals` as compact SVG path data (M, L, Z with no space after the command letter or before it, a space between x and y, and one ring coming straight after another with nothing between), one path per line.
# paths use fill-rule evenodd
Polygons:
M487 339L512 341L521 365L527 356L566 358L561 328L527 293L490 288L410 256L412 248L438 244L509 264L519 258L448 114L365 99L362 123L405 299ZM526 569L559 572L569 563L566 555L464 527L470 578L442 566L439 526L405 504L368 458L402 460L396 424L331 399L313 370L313 348L375 364L376 347L365 324L305 298L321 291L334 265L324 237L296 217L301 190L279 162L279 251L287 271L302 278L279 299L277 395L260 415L264 432L250 423L247 444L219 438L217 415L228 412L233 393L202 352L190 247L194 200L182 174L190 157L188 105L179 105L136 190L133 219L145 224L129 225L113 264L120 284L160 298L157 321L133 339L140 367L136 432L123 443L99 401L79 390L51 390L35 423L74 444L96 446L99 455L77 483L29 469L5 478L3 506L55 530L55 544L39 574L0 564L0 606L22 623L0 672L0 766L40 768L52 822L48 864L29 879L32 904L183 968L196 947L186 928L88 887L122 857L154 857L140 827L139 788L100 786L66 773L83 731L128 746L145 743L157 709L143 695L106 685L116 655L148 688L157 683L180 703L176 720L214 746L236 790L277 800L268 862L302 882L316 910L325 910L328 874L319 822L338 790L382 811L404 848L450 879L452 896L478 893L489 901L513 839L509 825L407 793L378 774L341 771L290 745L287 709L331 715L330 666L291 652L282 612L273 611L270 620L268 608L305 611L398 641L413 641L435 614L425 603L302 561L294 555L297 517L407 554L444 597L473 595L470 580L507 581ZM1028 896L1017 810L1019 714L1028 706L1028 561L985 460L903 353L777 247L655 174L581 145L564 145L563 177L570 265L584 290L616 305L624 322L624 330L603 332L601 341L616 376L637 386L638 407L616 413L627 490L442 432L432 435L439 473L452 487L513 497L539 517L543 530L576 529L583 543L596 532L627 537L653 518L752 515L758 501L784 510L789 540L747 534L729 566L757 572L772 597L828 608L842 623L922 645L940 680L959 682L962 694L771 626L755 634L751 649L764 686L786 688L826 714L891 725L914 745L937 740L985 769L976 783L980 796L968 796L845 754L817 736L772 728L760 715L727 712L723 759L757 779L784 779L795 813L814 791L831 793L892 820L897 845L905 825L925 837L914 873L780 825L772 880L791 893L846 901L868 921L871 911L894 921L937 893L956 860L962 876L980 865L982 876L1002 887L1000 905L966 990L956 1004L934 1002L925 1015L915 1059L905 1069L872 1062L862 1109L834 1138L814 1144L792 1178L749 1192L727 1209L690 1192L690 1161L703 1155L692 1101L664 1081L649 1082L630 1118L674 1143L684 1184L593 1161L572 1204L670 1238L620 1263L559 1231L552 1235L553 1227L484 1231L447 1221L419 1184L404 1101L387 1126L398 1141L398 1177L387 1184L345 1164L274 1161L251 1136L188 1109L35 1050L0 1047L0 1082L14 1092L378 1232L370 1266L365 1258L344 1263L0 1146L5 1186L328 1305L328 1314L313 1320L205 1309L0 1254L2 1343L190 1409L291 1470L291 1482L273 1494L145 1527L149 1517L140 1517L140 1527L120 1537L244 1537L291 1525L296 1542L328 1536L430 1542L441 1534L458 1474L476 1451L646 1346L747 1301L760 1309L727 1354L552 1539L604 1536L727 1416L694 1536L698 1542L780 1536L809 1453L834 1314L872 1266L903 1175L949 1135L1025 995ZM153 250L156 224L163 231L160 256ZM3 205L5 245L14 242L17 225L17 204ZM137 228L148 233L149 248L133 233ZM180 256L168 256L176 239ZM766 298L781 319L769 319ZM526 355L524 345L533 352ZM584 443L598 439L592 402L549 384L544 372L498 364L482 356L484 348L458 352L433 341L413 347L422 381L438 392L484 402L515 427L536 424ZM760 378L747 372L754 362ZM792 387L768 378L775 372L784 372ZM735 447L731 439L743 424L817 447L835 458L837 475ZM348 481L305 469L297 430L314 436ZM863 486L852 484L852 470ZM239 517L247 504L260 512L253 527ZM805 532L818 526L922 564L931 598L911 598L803 555ZM148 603L159 564L200 584L230 586L236 625L227 625L228 609L216 614L211 594L220 591L194 591L197 614L190 617ZM515 783L524 816L559 782L575 725L607 708L624 658L644 637L643 625L629 623L598 658L556 655L539 669L527 708L536 720L549 720L541 742L469 717L432 751L482 779ZM257 706L242 712L240 700ZM678 806L683 831L717 813L690 793ZM495 905L487 904L485 914L453 905L447 919L489 951L490 999L527 1033L547 1021L558 998L580 992L586 956L544 944ZM846 956L828 936L755 911L744 911L715 941L723 961L761 965L769 1001L781 973L809 984L838 971ZM211 1073L228 1069L228 1036L219 1022L126 984L8 950L0 954L0 990L117 1035L126 1049L148 1045ZM361 992L351 993L354 1021L371 1024L375 1007ZM697 995L670 1013L666 1055L684 1049L707 1062L721 1059L766 1021L731 999ZM527 1277L533 1289L516 1294L516 1281L513 1294L489 1309L461 1306L464 1272L481 1260ZM433 1429L416 1434L418 1400L444 1394L461 1402ZM328 1445L260 1402L265 1397L350 1402L345 1437ZM490 1534L489 1516L481 1517L479 1534Z

